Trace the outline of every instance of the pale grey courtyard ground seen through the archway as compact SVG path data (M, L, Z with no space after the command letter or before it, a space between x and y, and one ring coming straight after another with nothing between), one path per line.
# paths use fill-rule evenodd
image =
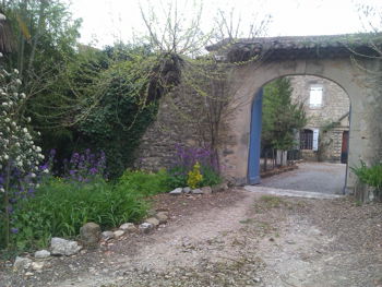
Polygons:
M298 169L262 179L261 186L342 194L346 165L329 163L301 163Z

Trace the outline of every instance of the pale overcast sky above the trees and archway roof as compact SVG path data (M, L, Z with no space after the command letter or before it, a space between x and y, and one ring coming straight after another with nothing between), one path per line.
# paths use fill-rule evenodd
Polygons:
M70 1L70 0L69 0ZM72 0L74 17L82 17L81 41L102 47L116 40L129 41L145 29L140 5L144 11L153 7L163 15L169 0ZM178 0L178 9L186 16L195 10L191 0ZM241 26L253 20L272 15L267 36L333 35L362 32L357 4L372 4L382 10L382 0L199 0L203 5L202 27L207 31L217 9L229 12L235 8ZM235 3L235 4L232 4ZM380 23L378 23L380 24Z

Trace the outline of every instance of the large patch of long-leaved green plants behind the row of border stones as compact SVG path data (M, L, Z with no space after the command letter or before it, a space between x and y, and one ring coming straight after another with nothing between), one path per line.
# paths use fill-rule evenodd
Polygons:
M102 229L139 222L147 208L140 194L115 189L103 179L79 184L52 178L14 211L13 248L31 250L46 247L51 237L73 238L88 222L97 223Z

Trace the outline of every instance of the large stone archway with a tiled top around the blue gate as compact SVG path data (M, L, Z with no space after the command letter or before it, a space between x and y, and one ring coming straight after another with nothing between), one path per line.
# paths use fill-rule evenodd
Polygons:
M238 41L225 50L224 58L228 61L237 55L253 57L252 49L258 51L262 49L259 55L264 56L261 64L259 61L248 61L234 68L232 82L238 85L234 100L241 104L236 117L230 119L231 142L225 146L229 153L222 155L222 163L226 166L226 175L235 178L238 184L249 182L252 101L255 100L255 95L263 85L287 75L324 77L333 81L347 93L351 103L348 166L359 165L360 159L372 163L375 158L381 158L382 128L379 122L382 122L382 116L379 110L382 107L382 84L374 74L368 72L368 70L381 69L381 63L372 58L359 59L366 68L359 69L350 59L353 52L339 40L343 40L343 37L332 37L330 43L326 41L322 46L323 38L327 37L250 39ZM362 51L367 49L363 44L357 47ZM210 50L214 49L222 52L216 46L210 47ZM240 53L240 50L243 52ZM235 51L234 56L232 51ZM266 57L270 52L271 57ZM353 189L354 186L355 178L347 172L346 188Z

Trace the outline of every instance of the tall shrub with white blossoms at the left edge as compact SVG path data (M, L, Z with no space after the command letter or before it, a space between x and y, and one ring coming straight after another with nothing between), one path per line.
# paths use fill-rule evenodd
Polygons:
M31 118L22 112L26 99L19 93L22 85L19 72L0 70L0 226L4 229L0 239L8 248L10 236L17 234L12 227L12 212L17 201L33 194L41 172L47 172L41 148L34 142L27 128Z

